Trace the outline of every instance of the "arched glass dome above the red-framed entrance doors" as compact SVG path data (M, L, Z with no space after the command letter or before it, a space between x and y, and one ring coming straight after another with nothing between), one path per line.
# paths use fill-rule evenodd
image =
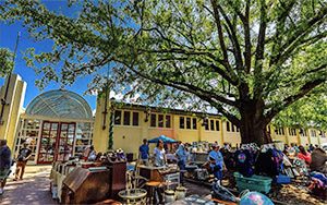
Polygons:
M55 89L35 97L26 108L26 114L68 119L92 119L87 101L76 93Z

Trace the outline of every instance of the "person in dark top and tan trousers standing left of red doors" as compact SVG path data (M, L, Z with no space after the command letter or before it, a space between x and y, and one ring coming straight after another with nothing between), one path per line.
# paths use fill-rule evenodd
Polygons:
M16 172L15 172L15 179L14 179L15 181L19 179L20 180L23 179L27 160L32 156L31 154L32 154L32 150L31 150L31 148L28 148L28 144L24 143L23 148L21 148L21 150L19 153L19 157L17 157Z

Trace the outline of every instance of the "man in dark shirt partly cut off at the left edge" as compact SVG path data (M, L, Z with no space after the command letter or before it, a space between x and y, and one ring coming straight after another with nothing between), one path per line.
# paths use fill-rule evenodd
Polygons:
M11 167L11 152L7 146L5 140L0 140L0 195L3 194L3 188L7 182L7 178L10 174Z

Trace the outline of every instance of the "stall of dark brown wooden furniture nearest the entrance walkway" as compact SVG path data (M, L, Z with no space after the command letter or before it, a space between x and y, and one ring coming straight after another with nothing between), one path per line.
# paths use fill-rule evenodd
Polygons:
M110 153L97 162L55 162L50 174L52 197L64 204L119 200L118 193L125 189L125 172L121 153Z

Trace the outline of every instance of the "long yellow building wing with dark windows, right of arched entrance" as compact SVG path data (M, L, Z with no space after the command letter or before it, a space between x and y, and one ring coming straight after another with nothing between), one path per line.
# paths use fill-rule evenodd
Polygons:
M189 112L179 109L159 109L107 99L107 120L104 120L105 99L98 99L95 117L94 145L97 150L108 149L110 116L113 118L113 148L122 148L126 153L136 154L143 138L166 135L185 143L206 141L218 144L241 143L240 131L218 114ZM109 111L108 111L109 110ZM106 123L106 124L104 124ZM326 133L313 129L292 129L269 126L274 141L287 144L327 143ZM272 132L271 132L272 130ZM316 132L319 132L317 134Z

